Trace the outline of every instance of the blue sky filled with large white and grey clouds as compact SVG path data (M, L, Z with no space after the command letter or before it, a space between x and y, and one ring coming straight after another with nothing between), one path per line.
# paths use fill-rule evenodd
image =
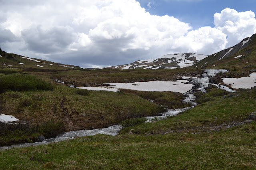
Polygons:
M256 33L256 0L0 0L0 47L83 68L211 55Z

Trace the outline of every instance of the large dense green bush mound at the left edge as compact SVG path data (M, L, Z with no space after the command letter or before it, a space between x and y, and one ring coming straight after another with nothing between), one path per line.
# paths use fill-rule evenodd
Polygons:
M8 90L53 90L54 85L33 75L12 74L5 75L0 79L0 93Z

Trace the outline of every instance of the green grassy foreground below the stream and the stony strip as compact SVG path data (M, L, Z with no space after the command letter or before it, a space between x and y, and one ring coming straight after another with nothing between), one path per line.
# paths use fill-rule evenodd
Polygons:
M0 152L1 169L254 169L254 124L212 134L95 135ZM245 130L249 128L250 130Z

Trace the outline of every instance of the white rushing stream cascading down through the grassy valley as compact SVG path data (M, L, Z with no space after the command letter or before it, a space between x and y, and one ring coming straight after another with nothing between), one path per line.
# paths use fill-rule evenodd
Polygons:
M146 117L147 121L146 122L154 122L154 121L160 121L162 119L166 119L169 116L176 116L179 113L182 113L188 109L192 109L197 103L194 102L196 99L195 93L196 91L200 90L203 93L206 92L205 87L208 87L209 84L215 85L216 87L220 89L224 89L229 92L235 92L235 90L229 89L227 86L224 85L217 85L210 83L210 78L209 77L214 77L217 73L225 73L228 70L224 69L207 69L204 70L204 73L201 78L194 78L190 83L192 84L197 84L196 89L191 89L190 91L184 93L185 99L182 101L184 103L190 103L193 105L192 107L187 107L187 108L182 108L182 109L168 109L167 112L162 113L161 116L154 116L154 117ZM57 80L56 80L57 81ZM58 80L59 81L59 80ZM60 81L60 83L62 83ZM153 102L153 101L152 101ZM67 139L73 139L76 137L81 137L81 136L92 136L95 134L107 134L107 135L112 135L116 136L118 132L122 129L121 125L113 125L107 128L100 128L100 129L93 129L93 130L78 130L78 131L70 131L70 132L65 132L63 134L58 135L56 138L49 138L49 139L44 139L42 142L34 142L34 143L24 143L24 144L17 144L17 145L11 145L11 146L3 146L0 147L0 150L6 150L9 148L14 148L14 147L25 147L25 146L37 146L40 144L49 144L53 142L59 142L62 140L67 140Z

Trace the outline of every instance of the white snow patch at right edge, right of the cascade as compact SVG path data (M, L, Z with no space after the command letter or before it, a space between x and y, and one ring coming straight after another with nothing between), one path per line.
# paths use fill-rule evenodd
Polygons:
M256 86L256 73L251 73L250 77L241 78L222 78L226 85L230 85L234 89L250 89Z

